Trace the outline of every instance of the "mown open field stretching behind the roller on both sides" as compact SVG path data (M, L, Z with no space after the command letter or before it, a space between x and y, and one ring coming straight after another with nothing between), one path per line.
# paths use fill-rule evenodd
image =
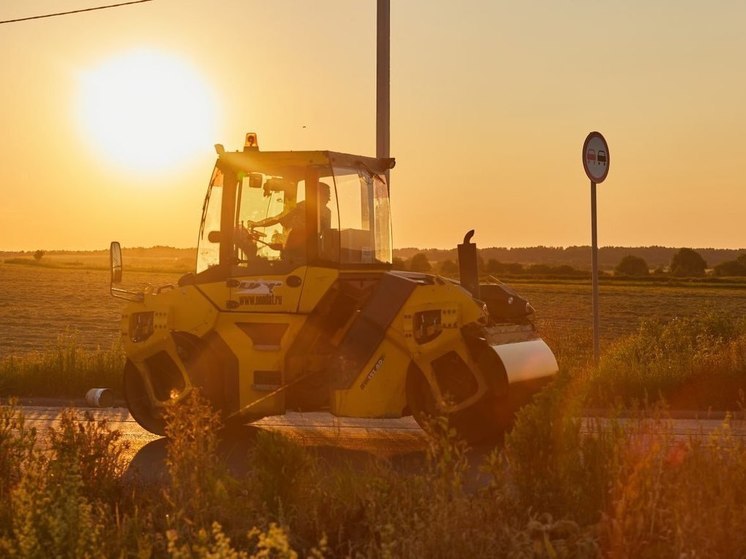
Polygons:
M77 344L87 349L111 347L118 338L124 303L109 294L107 259L102 253L85 262L79 256L45 256L40 265L29 258L26 264L0 263L0 356L46 350L60 335L75 336ZM164 271L169 269L173 271ZM184 262L172 256L159 259L125 253L128 285L175 283L186 269ZM536 308L537 324L550 345L554 332L590 336L589 282L516 282L512 286ZM600 303L602 340L609 342L635 332L643 319L707 312L746 316L746 289L602 282Z

